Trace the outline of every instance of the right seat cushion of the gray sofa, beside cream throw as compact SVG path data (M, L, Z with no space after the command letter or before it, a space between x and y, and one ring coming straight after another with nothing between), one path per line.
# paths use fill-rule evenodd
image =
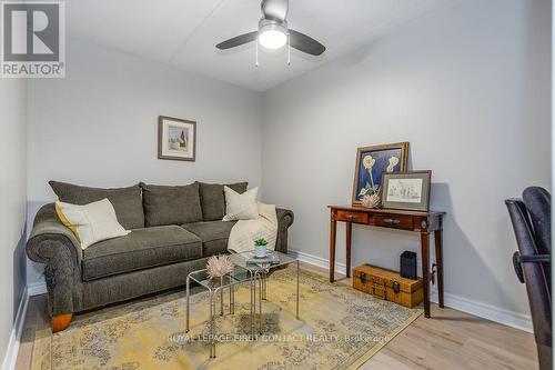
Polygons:
M191 231L202 240L202 256L228 252L228 239L235 222L206 221L183 224L182 228Z

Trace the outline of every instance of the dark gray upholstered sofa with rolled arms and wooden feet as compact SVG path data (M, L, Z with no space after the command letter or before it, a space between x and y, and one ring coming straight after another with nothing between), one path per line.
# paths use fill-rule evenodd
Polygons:
M234 222L221 221L223 184L138 186L119 189L50 182L60 201L85 204L108 198L118 221L131 232L82 250L73 233L43 206L34 219L27 254L44 263L48 309L54 331L69 326L73 312L121 302L183 286L210 256L225 253ZM246 182L228 184L238 192ZM275 249L287 251L293 212L278 209Z

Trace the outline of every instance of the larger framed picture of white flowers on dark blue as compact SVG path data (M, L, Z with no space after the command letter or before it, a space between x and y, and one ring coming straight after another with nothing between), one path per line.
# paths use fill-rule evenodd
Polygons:
M406 141L357 148L352 206L361 207L362 197L379 193L383 173L405 172L407 162L408 142Z

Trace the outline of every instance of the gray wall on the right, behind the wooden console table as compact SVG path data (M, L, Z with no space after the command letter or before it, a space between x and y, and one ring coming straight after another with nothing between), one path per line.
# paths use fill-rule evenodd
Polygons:
M503 200L549 188L549 1L461 1L266 92L264 198L295 211L291 247L327 259L326 206L351 202L355 148L410 141L447 211L445 291L525 318ZM354 264L396 269L418 238L354 227L353 242Z

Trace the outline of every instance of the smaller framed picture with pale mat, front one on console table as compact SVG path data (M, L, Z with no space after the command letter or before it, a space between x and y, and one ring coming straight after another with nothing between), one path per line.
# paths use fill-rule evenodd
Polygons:
M430 210L432 171L410 171L383 174L382 207L408 211Z

